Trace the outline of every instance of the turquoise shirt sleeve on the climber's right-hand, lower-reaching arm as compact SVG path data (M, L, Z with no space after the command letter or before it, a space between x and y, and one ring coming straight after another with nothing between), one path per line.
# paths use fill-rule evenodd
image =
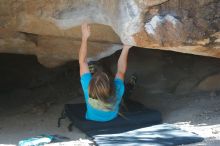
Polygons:
M115 78L114 82L115 82L115 89L116 89L115 94L117 98L117 103L119 104L121 102L125 90L124 82L119 78Z

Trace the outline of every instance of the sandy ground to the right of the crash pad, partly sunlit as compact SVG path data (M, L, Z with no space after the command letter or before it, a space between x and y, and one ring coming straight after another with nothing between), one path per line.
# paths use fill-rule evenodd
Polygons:
M205 138L203 142L192 145L220 145L220 96L217 93L158 95L138 100L148 107L159 109L165 123L173 123Z

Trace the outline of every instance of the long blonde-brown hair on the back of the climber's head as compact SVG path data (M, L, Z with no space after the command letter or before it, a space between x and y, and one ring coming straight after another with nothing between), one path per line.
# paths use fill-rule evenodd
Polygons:
M104 72L96 72L89 83L89 97L112 108L116 102L113 80Z

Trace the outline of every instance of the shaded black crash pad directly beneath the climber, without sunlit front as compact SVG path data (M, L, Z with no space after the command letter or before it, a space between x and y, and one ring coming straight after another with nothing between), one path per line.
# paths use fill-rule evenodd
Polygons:
M123 112L123 117L118 116L108 122L86 120L85 104L66 104L65 114L75 127L85 132L88 136L120 133L162 122L160 112L145 108L142 104L133 102L128 109L127 112Z

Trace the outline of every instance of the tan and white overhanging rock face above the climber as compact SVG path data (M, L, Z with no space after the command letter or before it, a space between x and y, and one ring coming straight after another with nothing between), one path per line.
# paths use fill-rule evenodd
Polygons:
M61 65L77 59L85 21L93 60L122 43L220 58L219 0L1 0L0 52Z

